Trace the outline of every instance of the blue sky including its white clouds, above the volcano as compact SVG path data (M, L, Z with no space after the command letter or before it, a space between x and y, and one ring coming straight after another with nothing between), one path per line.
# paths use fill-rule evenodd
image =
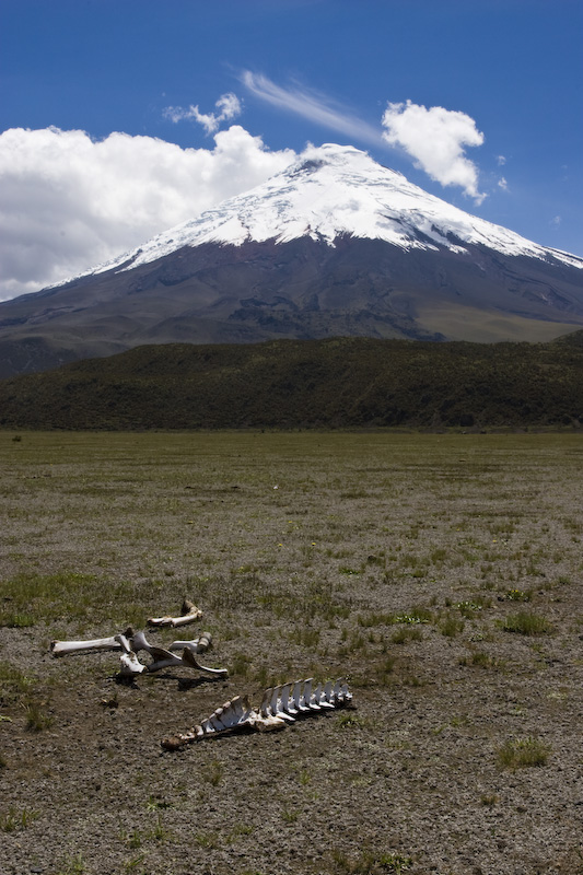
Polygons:
M0 34L0 299L307 142L583 255L580 0L2 0Z

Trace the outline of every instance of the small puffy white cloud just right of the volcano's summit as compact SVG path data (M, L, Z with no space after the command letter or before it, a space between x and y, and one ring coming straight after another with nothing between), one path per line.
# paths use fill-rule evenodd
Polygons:
M470 116L407 101L387 105L383 126L387 143L404 149L416 167L443 186L460 186L481 203L486 195L478 191L478 168L464 154L466 147L483 143L483 133Z

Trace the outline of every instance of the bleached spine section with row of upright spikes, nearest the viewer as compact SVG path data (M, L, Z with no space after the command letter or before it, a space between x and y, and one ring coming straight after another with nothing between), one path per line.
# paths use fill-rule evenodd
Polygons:
M352 693L343 679L336 684L328 681L318 684L313 690L313 678L295 680L279 687L269 687L264 692L261 704L256 711L252 708L247 696L235 696L200 725L186 733L163 738L161 744L166 750L176 750L183 745L199 742L201 738L229 731L282 730L288 723L294 723L298 716L341 708L349 704Z

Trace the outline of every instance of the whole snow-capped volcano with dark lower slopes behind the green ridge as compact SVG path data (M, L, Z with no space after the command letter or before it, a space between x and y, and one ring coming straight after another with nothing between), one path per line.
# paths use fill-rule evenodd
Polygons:
M329 144L114 261L0 303L0 375L142 343L547 340L581 326L582 258Z

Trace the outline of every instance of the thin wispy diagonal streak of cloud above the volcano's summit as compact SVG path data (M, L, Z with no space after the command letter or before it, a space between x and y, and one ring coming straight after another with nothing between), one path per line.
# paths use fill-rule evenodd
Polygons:
M381 131L373 125L363 121L354 113L324 94L301 85L283 88L277 85L261 73L244 70L241 82L255 96L280 109L295 113L303 118L315 121L325 128L336 130L347 137L371 143L383 144Z

